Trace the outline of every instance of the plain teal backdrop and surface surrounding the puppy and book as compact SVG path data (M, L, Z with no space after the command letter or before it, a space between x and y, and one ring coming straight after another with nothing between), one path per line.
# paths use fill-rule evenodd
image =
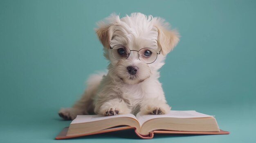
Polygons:
M255 0L0 0L0 142L256 142ZM94 33L110 13L159 16L181 35L161 68L173 110L216 115L229 135L133 131L56 141L85 80L108 64Z

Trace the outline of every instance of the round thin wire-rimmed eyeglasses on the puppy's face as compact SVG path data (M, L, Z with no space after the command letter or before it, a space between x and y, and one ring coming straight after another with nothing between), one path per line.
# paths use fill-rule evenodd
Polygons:
M130 50L124 45L115 45L113 47L110 46L110 49L112 50L112 56L117 60L127 59L130 56L131 51L136 51ZM146 62L147 64L151 64L155 62L157 55L160 54L161 50L157 53L157 51L155 51L153 48L141 48L137 52L139 60Z

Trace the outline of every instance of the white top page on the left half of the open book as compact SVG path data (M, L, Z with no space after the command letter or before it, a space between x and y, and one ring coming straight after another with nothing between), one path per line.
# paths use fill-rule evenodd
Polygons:
M137 121L136 117L133 114L121 114L121 115L115 115L115 116L77 115L76 119L74 119L70 124L86 123L86 122L100 121L100 120L119 118L119 117L128 117L128 118L135 119Z

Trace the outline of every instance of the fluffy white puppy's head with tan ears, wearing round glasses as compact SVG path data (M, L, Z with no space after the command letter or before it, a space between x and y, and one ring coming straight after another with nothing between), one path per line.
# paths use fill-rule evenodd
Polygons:
M179 42L176 31L168 30L162 18L132 13L124 18L112 14L95 29L110 60L111 76L127 84L138 84L164 65L164 57ZM158 75L156 75L158 76Z

